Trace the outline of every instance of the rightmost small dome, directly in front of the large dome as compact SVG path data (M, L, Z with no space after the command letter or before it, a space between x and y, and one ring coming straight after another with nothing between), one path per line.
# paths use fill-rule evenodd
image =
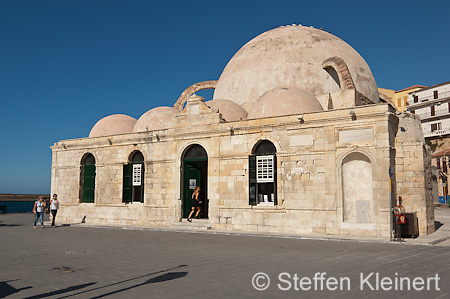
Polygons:
M248 112L248 119L322 110L319 101L310 93L296 87L278 87L263 94L252 105Z

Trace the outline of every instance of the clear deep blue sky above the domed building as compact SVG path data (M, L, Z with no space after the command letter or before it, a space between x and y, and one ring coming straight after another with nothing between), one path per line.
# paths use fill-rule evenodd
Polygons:
M448 1L0 0L0 193L50 192L52 144L110 114L172 106L282 25L340 37L379 87L450 81L449 12Z

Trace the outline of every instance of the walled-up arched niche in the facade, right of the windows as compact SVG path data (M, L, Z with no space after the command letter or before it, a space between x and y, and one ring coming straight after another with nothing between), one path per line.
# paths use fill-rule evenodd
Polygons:
M375 211L374 165L368 155L351 151L341 163L342 220L373 223Z

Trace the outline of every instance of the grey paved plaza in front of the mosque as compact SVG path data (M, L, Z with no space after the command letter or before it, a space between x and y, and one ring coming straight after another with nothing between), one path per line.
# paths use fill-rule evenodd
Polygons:
M449 213L428 245L33 229L31 213L0 215L0 298L449 298Z

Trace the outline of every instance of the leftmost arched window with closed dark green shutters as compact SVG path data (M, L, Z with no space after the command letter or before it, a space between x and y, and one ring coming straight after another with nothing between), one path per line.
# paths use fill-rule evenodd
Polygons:
M95 158L85 154L80 167L80 202L94 202L95 196Z

